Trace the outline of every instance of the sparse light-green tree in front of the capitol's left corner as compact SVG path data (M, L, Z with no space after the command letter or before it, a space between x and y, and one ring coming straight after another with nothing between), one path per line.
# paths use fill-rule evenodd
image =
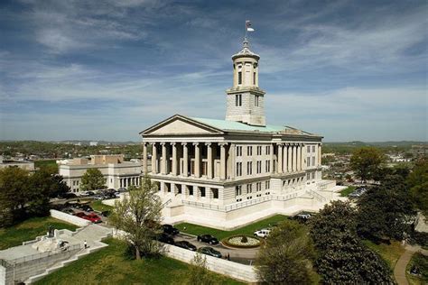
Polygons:
M155 241L160 234L163 204L157 196L157 187L147 176L141 186L130 187L128 195L117 200L109 217L110 223L124 231L124 237L135 250L135 258L152 257L161 252Z

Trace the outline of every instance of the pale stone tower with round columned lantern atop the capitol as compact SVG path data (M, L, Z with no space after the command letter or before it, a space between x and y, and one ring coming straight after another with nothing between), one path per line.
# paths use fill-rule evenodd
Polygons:
M265 91L258 87L260 56L249 50L245 38L242 50L232 60L233 86L226 90L226 120L265 126Z

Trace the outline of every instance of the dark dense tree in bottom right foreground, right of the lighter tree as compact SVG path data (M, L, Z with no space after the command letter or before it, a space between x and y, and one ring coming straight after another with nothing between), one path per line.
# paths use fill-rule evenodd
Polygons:
M322 283L393 283L386 262L358 239L356 216L349 203L334 201L312 217L310 234L319 253L315 266Z

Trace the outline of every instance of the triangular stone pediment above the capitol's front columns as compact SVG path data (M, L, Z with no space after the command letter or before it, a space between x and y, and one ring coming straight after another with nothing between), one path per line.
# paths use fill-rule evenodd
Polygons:
M183 115L173 115L159 124L144 130L143 135L177 135L177 134L209 134L223 133L208 124L202 124Z

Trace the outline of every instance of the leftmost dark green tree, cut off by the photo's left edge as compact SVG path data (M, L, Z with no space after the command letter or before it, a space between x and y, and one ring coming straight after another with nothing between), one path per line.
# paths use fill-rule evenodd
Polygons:
M31 198L29 172L17 167L0 170L0 227L14 225L25 216Z

